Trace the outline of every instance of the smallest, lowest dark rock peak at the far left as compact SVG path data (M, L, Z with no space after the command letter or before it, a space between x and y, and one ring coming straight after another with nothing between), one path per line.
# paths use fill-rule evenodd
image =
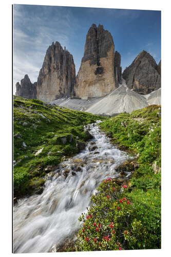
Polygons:
M24 76L24 79L16 83L16 96L24 97L27 99L36 98L36 82L31 83L28 75Z

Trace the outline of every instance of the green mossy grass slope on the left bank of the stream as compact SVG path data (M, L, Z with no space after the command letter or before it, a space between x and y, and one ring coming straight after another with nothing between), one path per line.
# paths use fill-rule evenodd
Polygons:
M48 166L53 168L63 156L79 152L76 140L85 142L88 139L85 124L104 118L37 99L14 97L13 103L14 196L23 196L40 190ZM41 149L42 152L35 156Z

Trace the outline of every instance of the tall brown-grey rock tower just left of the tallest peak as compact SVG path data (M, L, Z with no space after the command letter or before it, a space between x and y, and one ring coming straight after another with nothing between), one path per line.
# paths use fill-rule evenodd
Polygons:
M52 43L37 79L37 99L50 102L63 96L72 96L75 83L75 65L72 55L59 42Z

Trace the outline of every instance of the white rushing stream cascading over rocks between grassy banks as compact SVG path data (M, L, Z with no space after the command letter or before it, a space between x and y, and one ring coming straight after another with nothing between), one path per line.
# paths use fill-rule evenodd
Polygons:
M20 199L14 206L14 252L49 252L54 246L58 251L65 238L80 228L78 218L100 182L119 177L116 166L130 157L110 143L98 124L89 129L94 139L86 149L47 176L41 195Z

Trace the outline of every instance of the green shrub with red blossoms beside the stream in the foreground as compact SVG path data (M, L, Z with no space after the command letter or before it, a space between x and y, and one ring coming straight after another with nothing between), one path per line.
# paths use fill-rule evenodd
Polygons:
M146 248L148 235L134 203L125 197L126 188L110 178L101 183L91 197L90 209L79 218L84 224L78 233L77 251Z

